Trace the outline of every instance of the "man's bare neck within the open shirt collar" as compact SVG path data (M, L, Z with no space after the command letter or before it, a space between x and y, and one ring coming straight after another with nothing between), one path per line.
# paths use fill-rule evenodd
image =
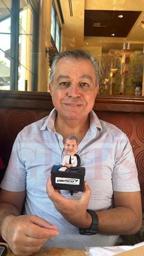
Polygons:
M79 120L63 120L59 115L57 115L55 120L55 129L57 133L60 133L63 136L64 141L66 137L73 135L77 137L80 143L89 127L89 117L80 122Z

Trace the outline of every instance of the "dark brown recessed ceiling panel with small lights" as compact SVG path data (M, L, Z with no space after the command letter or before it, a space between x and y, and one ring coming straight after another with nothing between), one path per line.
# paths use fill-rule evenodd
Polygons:
M140 11L85 10L84 36L127 37Z

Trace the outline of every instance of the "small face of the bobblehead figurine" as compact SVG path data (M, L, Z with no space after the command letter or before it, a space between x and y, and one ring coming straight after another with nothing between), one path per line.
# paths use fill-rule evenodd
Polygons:
M69 156L73 156L77 152L76 139L66 139L65 141L65 153Z

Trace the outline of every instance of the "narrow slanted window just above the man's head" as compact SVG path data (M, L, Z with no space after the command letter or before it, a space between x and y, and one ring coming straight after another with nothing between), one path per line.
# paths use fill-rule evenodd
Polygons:
M60 51L61 28L59 25L56 9L54 8L53 4L52 4L52 10L51 10L51 36L52 36L52 46L56 46L57 51Z

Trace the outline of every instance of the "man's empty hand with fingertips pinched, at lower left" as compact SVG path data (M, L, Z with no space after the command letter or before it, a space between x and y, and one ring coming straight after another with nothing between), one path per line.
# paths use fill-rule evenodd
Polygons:
M57 227L34 215L8 215L2 224L2 238L15 255L31 255L59 235Z

